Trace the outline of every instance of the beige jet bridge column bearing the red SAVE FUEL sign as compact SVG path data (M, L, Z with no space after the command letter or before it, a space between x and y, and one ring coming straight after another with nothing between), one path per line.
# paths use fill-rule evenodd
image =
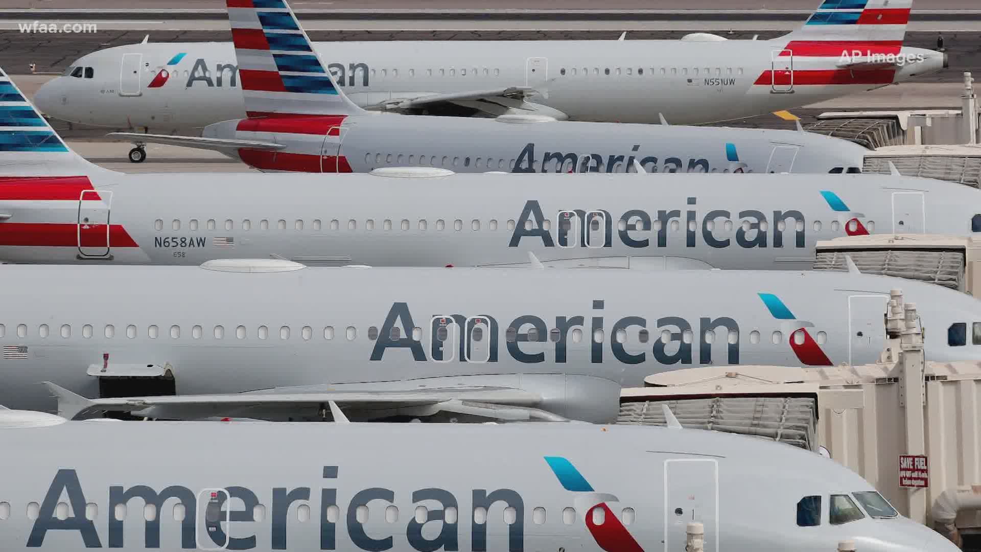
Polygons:
M900 348L900 407L904 409L907 455L926 454L926 431L923 409L926 406L926 383L923 379L923 332L919 327L916 304L903 303L899 290L890 293L889 315L886 322L890 333L899 330ZM926 524L926 489L908 489L909 518Z

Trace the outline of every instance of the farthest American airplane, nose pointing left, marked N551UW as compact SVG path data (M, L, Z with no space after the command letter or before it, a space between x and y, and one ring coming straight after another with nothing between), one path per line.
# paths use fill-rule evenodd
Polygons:
M261 6L279 22L281 2ZM319 43L337 83L373 110L535 114L558 120L726 121L901 83L948 66L903 45L912 0L823 0L801 28L770 40L352 41ZM283 19L288 28L288 20ZM236 31L264 43L257 29ZM276 36L274 35L274 38ZM288 40L274 43L295 51ZM146 42L78 58L34 96L48 115L157 134L246 116L230 42Z

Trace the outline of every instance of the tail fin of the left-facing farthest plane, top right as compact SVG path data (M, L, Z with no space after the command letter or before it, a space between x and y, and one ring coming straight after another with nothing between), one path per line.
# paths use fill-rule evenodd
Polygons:
M899 53L913 0L822 0L803 26L783 38L795 56L839 57L843 51ZM797 42L795 44L795 42Z

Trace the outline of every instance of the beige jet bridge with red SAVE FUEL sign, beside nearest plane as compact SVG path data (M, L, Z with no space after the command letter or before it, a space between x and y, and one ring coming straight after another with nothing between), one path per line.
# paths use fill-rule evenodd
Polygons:
M891 294L885 347L864 365L698 367L624 389L619 423L756 435L825 454L875 485L904 516L964 549L981 541L981 362L928 362L915 305ZM934 330L937 331L937 330ZM918 457L909 486L901 457ZM924 486L925 485L925 486Z

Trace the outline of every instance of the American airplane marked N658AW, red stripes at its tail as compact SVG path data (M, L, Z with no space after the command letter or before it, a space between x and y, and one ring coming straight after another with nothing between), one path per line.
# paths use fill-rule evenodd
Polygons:
M0 86L17 96L0 104L6 262L524 265L531 251L548 266L806 269L819 240L981 232L981 192L898 174L125 175Z

